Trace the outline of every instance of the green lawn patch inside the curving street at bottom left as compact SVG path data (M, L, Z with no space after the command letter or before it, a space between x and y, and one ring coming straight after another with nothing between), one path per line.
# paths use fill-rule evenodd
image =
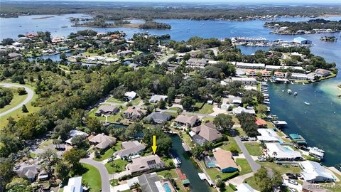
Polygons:
M100 191L102 188L101 175L99 171L89 164L82 164L87 169L85 174L82 174L82 183L87 183L90 186L90 191Z

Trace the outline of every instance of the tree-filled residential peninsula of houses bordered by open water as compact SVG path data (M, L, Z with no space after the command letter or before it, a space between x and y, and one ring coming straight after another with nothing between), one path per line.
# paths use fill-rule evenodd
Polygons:
M268 90L269 83L334 78L335 63L310 53L305 38L253 55L242 54L240 42L89 29L4 38L1 108L22 95L32 100L20 113L1 114L0 187L267 192L340 185L340 171L320 164L325 151L283 132L288 124L271 114Z

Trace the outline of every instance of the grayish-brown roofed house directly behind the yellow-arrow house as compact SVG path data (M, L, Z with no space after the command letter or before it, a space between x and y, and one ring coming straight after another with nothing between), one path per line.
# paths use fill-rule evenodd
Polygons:
M130 160L133 156L138 156L141 151L146 149L146 146L138 141L123 142L121 145L123 149L116 151L114 156L127 160Z

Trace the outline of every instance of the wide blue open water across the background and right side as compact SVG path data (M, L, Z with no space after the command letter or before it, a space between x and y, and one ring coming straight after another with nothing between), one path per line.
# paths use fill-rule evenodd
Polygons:
M71 32L86 28L72 28L68 17L89 17L83 14L69 14L54 16L45 19L32 19L41 16L21 16L18 18L0 18L0 39L16 38L18 34L36 31L50 31L52 36L67 36ZM310 18L279 18L279 21L306 21ZM340 20L341 17L326 18ZM171 30L141 30L137 28L92 28L95 31L124 31L127 37L134 33L147 32L151 34L170 34L175 41L186 41L193 36L202 38L229 38L233 36L264 37L269 40L292 40L296 36L270 34L270 28L264 28L266 21L192 21L192 20L157 20L171 25ZM136 21L140 22L140 21ZM67 26L67 28L62 28ZM335 62L341 71L341 40L340 33L334 33L339 40L336 43L320 41L321 36L330 34L302 35L313 41L310 48L315 55L320 55L328 62ZM251 54L258 49L243 47L242 53ZM337 84L341 84L341 75L331 80L325 80L310 85L270 85L271 112L277 114L280 119L288 122L288 127L283 129L286 134L301 134L309 146L318 146L326 151L323 164L333 166L341 164L341 91ZM286 87L288 86L288 87ZM281 90L290 88L298 92L293 98L283 95ZM310 106L302 105L307 100ZM185 169L185 167L184 167Z

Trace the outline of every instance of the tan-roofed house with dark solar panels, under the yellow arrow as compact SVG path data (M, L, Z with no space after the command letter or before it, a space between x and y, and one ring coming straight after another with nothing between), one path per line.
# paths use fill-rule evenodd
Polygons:
M126 168L131 171L131 173L135 173L148 171L150 169L158 169L164 166L165 164L163 163L163 161L161 161L158 155L150 155L133 159L133 162L131 164L128 164Z

